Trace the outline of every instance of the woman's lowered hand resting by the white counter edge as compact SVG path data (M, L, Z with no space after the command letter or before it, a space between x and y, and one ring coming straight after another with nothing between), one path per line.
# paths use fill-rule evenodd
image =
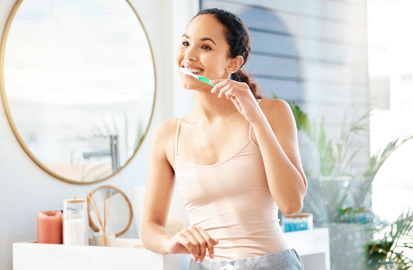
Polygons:
M210 258L214 258L214 246L218 239L212 239L209 234L199 226L188 226L175 234L171 239L165 239L162 246L168 253L192 254L195 261L204 261L207 252Z

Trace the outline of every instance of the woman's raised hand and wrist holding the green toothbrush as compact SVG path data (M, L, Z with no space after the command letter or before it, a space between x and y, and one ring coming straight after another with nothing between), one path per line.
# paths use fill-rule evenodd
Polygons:
M237 110L245 116L249 123L258 120L261 108L248 84L230 79L210 80L210 83L215 84L214 88L211 89L211 93L219 91L218 97L226 96L227 99L231 99Z

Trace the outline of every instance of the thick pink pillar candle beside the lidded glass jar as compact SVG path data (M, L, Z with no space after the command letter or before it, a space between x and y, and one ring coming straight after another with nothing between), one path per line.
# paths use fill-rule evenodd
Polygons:
M37 212L37 243L62 244L62 212Z

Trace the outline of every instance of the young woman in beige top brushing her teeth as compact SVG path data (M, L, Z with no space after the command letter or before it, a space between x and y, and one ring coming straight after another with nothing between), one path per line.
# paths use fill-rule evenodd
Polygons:
M199 11L176 64L216 86L180 72L195 108L159 124L151 138L141 238L156 253L192 254L190 270L304 269L278 219L278 209L302 209L307 189L297 128L287 102L262 101L240 70L250 51L239 17ZM171 236L166 221L175 183L191 225Z

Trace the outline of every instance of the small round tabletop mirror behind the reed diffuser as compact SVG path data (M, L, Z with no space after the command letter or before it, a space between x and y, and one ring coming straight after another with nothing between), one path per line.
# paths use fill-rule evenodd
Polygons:
M112 190L113 189L113 190ZM104 200L104 191L106 190L106 201ZM112 190L112 196L110 195ZM93 193L93 196L92 196ZM100 216L100 221L104 222L104 210L107 212L106 218L106 232L115 233L115 237L124 234L131 226L133 219L132 205L128 200L128 197L118 188L114 186L101 186L96 188L89 193L89 197L94 200L93 205L96 204L98 215ZM109 203L110 200L110 203ZM106 202L106 207L104 205ZM100 222L95 214L92 204L88 199L88 215L89 215L89 225L93 231L99 231Z

